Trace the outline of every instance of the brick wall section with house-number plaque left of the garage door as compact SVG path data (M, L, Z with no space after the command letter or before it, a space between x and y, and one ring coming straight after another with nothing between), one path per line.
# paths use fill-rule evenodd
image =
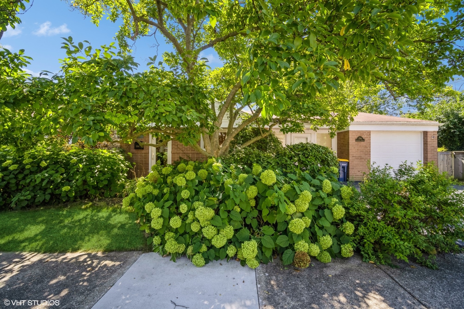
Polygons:
M363 179L364 177L363 173L369 172L369 164L371 160L371 132L370 131L348 131L348 132L349 132L348 178L351 181L359 181ZM362 136L364 138L364 142L356 142L355 139L358 136ZM337 150L338 150L338 145L337 145Z

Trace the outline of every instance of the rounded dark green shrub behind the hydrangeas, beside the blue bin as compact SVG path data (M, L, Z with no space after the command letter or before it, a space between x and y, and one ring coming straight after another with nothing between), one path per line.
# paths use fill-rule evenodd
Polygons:
M237 164L247 168L252 168L253 164L259 164L264 168L279 167L289 172L299 169L313 176L319 172L318 165L338 168L335 152L328 147L313 143L287 145L277 151L268 152L247 147L223 160L226 164Z

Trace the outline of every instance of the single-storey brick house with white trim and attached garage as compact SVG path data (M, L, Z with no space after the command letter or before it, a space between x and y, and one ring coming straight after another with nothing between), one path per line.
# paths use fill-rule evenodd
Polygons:
M227 121L227 120L225 120ZM223 123L226 128L228 123ZM369 171L370 164L389 164L397 168L404 161L417 163L437 163L437 132L440 124L436 121L418 120L387 115L359 113L347 128L336 132L330 138L328 128L321 127L314 131L310 124L304 133L280 132L275 129L276 136L282 144L316 143L332 148L337 157L349 160L348 179L362 180L363 174ZM225 136L226 129L223 130ZM142 141L148 141L146 136ZM199 142L202 146L202 141ZM138 145L138 144L137 144ZM122 145L123 149L132 153L131 161L136 163L135 172L138 177L148 174L151 165L155 164L156 153L153 147L137 147ZM168 163L179 158L190 160L205 159L203 155L184 146L178 141L171 141L167 146Z

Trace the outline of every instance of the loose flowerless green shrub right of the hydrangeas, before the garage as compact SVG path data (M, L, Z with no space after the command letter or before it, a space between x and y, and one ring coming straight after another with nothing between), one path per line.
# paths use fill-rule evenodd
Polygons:
M452 183L433 164L372 167L361 195L353 190L355 198L345 201L363 259L384 264L392 255L414 257L436 267L438 252L461 252L456 240L464 237L464 195Z

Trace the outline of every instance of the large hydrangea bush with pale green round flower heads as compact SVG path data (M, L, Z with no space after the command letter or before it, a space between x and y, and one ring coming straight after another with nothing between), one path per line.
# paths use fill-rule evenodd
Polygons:
M200 267L237 256L256 268L274 252L304 268L310 256L328 263L352 255L354 225L345 220L336 173L241 170L215 159L154 165L123 203L135 209L154 251L174 261L187 254Z

